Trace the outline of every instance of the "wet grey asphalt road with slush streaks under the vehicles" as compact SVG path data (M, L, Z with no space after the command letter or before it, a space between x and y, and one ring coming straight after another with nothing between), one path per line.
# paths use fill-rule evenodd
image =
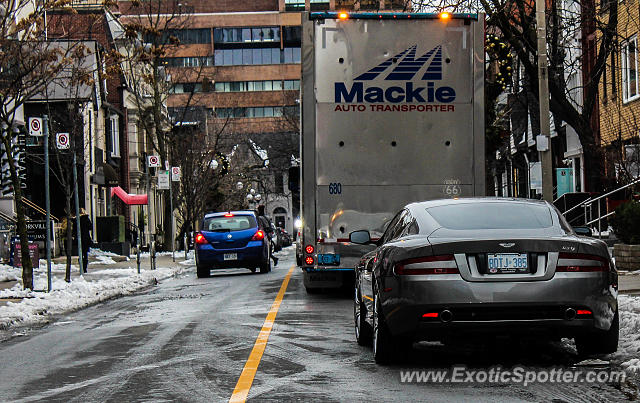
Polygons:
M273 326L265 325L289 269L287 251L265 275L194 272L137 295L65 315L0 343L2 401L228 401L243 368L252 401L603 401L629 395L616 384L409 384L400 371L533 368L576 363L561 343L487 340L418 345L408 360L382 367L358 346L350 295L307 295L292 272ZM265 326L263 326L265 325ZM259 334L269 332L256 356ZM258 348L259 350L259 348ZM254 353L252 354L252 351ZM258 354L259 355L259 354ZM249 357L255 365L245 367ZM256 361L256 359L258 359ZM247 375L248 374L248 375ZM621 390L622 389L622 390Z

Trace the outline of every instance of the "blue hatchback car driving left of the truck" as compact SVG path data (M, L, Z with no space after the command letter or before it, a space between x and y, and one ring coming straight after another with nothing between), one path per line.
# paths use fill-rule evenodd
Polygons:
M198 277L209 277L212 269L233 267L271 271L269 239L258 226L255 212L209 213L200 228L194 242Z

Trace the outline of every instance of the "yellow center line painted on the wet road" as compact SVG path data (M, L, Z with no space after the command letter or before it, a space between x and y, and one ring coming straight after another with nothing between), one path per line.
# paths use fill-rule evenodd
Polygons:
M271 329L276 321L278 309L280 309L280 304L284 298L284 293L287 291L287 285L289 285L289 279L291 278L291 273L293 273L294 268L295 266L291 266L289 272L282 281L280 291L278 291L278 295L276 295L276 299L273 301L271 309L264 320L262 329L260 329L256 343L253 345L253 350L251 350L251 354L249 354L249 358L244 364L244 368L242 368L242 374L240 374L240 378L238 378L238 382L236 383L236 387L233 390L233 394L231 395L229 402L245 402L247 400L247 396L249 396L249 390L253 384L253 378L255 378L256 372L258 371L258 365L260 365L260 360L262 360L264 349L267 347L269 334L271 334Z

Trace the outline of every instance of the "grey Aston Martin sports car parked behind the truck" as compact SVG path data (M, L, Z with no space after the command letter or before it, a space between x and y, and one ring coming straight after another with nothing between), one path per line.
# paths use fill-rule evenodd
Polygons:
M368 231L351 242L374 243ZM618 346L618 275L604 242L549 203L433 200L403 208L356 267L359 344L388 363L417 340L575 338L580 355Z

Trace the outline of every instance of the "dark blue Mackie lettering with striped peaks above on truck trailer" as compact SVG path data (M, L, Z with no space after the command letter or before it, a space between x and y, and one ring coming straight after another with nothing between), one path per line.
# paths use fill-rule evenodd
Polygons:
M417 45L410 46L397 55L385 60L376 67L360 74L354 79L351 88L347 89L345 83L335 83L336 103L412 103L412 102L439 102L449 103L456 99L456 92L451 87L437 87L434 81L442 80L442 45L438 45L424 55L416 59ZM366 81L377 79L387 71L394 60L397 66L385 77L385 81L405 81L404 86L397 85L387 88L367 86ZM411 81L416 74L430 61L422 74L422 80L427 81L425 87L414 87Z

